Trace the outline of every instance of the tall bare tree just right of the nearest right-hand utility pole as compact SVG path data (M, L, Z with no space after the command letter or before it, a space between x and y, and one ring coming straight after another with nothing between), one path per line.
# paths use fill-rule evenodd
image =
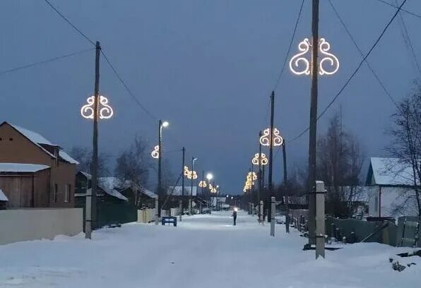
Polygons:
M317 178L327 187L326 212L336 217L355 213L361 195L360 173L364 157L355 136L343 131L340 115L331 118L318 140Z

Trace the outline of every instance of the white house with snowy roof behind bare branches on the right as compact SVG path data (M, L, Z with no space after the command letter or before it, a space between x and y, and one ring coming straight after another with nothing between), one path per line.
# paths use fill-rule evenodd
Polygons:
M413 172L396 158L372 157L367 174L369 216L417 215ZM419 185L419 183L417 184Z

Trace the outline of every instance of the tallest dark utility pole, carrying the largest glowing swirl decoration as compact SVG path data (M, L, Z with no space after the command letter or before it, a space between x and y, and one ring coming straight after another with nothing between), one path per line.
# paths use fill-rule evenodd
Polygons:
M312 90L309 128L309 244L316 244L316 129L317 129L317 74L319 52L319 0L312 0Z

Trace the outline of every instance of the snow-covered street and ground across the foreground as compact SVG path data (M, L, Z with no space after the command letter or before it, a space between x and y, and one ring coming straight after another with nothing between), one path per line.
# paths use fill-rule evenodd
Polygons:
M403 272L389 257L406 248L346 245L314 260L294 229L259 226L239 212L184 217L178 227L126 224L54 241L0 246L0 287L421 287L419 257ZM406 258L408 262L408 258Z

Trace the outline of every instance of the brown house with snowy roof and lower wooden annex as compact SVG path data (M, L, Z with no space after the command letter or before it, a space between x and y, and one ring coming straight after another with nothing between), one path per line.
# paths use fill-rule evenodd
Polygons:
M76 164L40 134L0 124L0 189L8 208L73 207Z

